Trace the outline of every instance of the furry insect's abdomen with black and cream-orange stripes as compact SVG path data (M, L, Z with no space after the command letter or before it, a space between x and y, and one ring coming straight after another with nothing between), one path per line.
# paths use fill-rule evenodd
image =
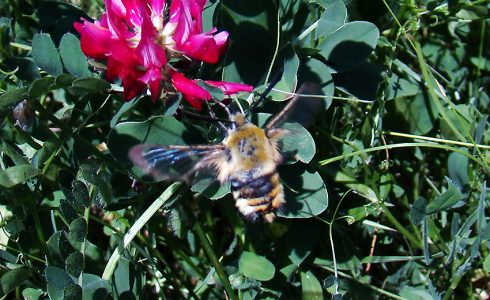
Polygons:
M284 204L283 186L277 172L249 180L231 180L236 207L248 219L272 222L276 210Z

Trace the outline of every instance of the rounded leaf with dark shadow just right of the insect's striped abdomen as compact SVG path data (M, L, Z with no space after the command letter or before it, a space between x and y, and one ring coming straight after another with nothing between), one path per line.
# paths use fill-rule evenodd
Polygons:
M279 167L286 203L278 216L311 218L328 207L328 193L322 177L311 167L296 163Z

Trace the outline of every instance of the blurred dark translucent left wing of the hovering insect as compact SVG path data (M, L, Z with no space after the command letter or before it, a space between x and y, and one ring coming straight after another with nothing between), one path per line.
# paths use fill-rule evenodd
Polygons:
M215 167L223 156L223 145L164 146L139 144L129 151L129 159L156 180L183 179L203 168Z

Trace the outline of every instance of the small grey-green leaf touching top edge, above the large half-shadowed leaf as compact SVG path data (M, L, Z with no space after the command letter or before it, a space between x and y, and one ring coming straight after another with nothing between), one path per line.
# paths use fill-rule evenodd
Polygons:
M318 21L315 38L325 37L342 27L347 21L347 8L341 0L329 4Z

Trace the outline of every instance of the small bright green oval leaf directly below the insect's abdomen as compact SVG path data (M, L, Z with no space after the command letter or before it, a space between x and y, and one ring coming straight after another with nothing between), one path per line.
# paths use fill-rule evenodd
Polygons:
M238 270L243 275L259 281L271 280L276 272L276 268L267 258L248 251L244 251L240 256Z

